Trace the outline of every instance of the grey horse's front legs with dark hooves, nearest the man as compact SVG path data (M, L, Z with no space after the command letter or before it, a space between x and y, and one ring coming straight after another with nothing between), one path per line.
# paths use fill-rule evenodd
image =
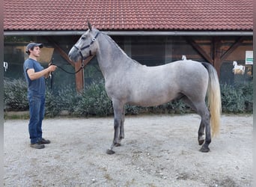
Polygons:
M113 100L114 108L114 140L108 154L114 154L114 147L121 145L121 139L124 138L124 104L118 100Z

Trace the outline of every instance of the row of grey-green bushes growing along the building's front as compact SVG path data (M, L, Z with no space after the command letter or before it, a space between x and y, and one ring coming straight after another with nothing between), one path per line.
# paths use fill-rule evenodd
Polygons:
M252 82L243 85L221 84L222 111L225 113L252 112L252 92ZM25 80L4 79L4 110L28 110ZM112 101L106 94L103 79L86 85L82 94L76 93L70 86L59 88L58 91L46 89L46 116L54 117L64 110L77 117L112 115ZM183 114L191 111L184 102L177 100L155 107L125 105L126 114Z

